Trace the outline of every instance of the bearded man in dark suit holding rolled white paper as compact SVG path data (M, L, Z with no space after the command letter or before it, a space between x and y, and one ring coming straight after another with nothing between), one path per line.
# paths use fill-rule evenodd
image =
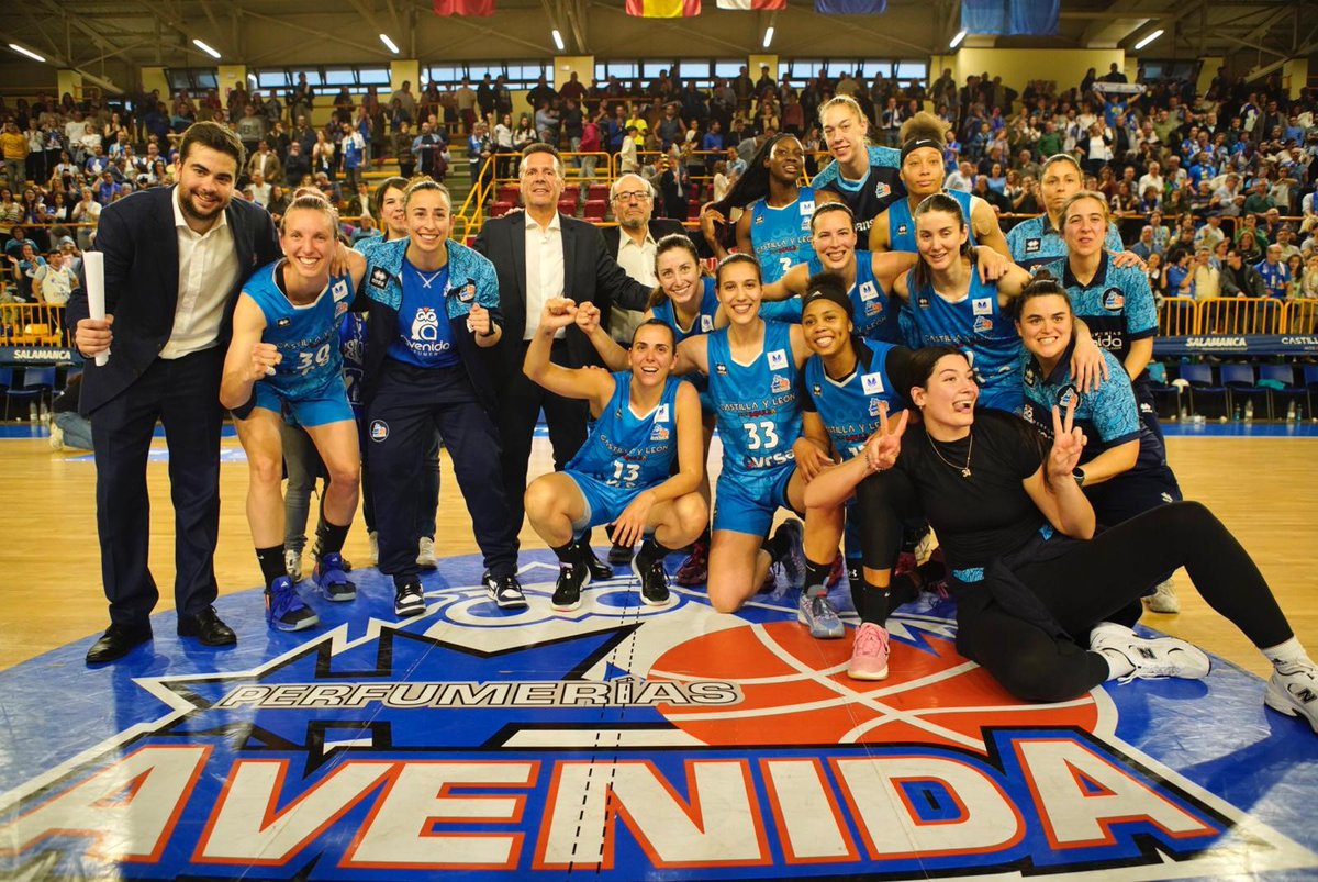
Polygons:
M159 599L148 568L146 457L156 422L169 438L178 633L206 646L236 642L211 605L220 518L219 386L239 289L279 254L265 210L232 200L243 145L215 123L183 134L178 185L107 206L96 231L105 256L105 318L75 291L69 322L88 359L82 413L96 447L96 527L109 629L88 664L113 662L152 637ZM113 344L113 345L111 345ZM91 360L111 352L104 367Z

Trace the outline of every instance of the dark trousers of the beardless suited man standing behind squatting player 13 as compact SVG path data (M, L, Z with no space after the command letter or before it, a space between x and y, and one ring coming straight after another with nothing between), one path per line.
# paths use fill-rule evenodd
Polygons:
M526 343L521 352L525 357ZM567 344L555 340L550 351L550 361L567 365ZM518 360L521 367L522 361ZM564 398L546 392L521 370L507 382L500 394L498 432L503 440L503 496L513 515L513 534L522 529L526 515L522 497L526 494L526 471L531 459L531 440L535 423L544 410L544 421L550 425L550 443L554 446L554 471L560 472L576 452L581 450L587 435L589 406L576 398ZM448 440L448 436L444 436Z

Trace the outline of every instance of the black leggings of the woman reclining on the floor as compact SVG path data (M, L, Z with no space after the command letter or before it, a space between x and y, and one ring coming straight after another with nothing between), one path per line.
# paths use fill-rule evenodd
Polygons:
M875 488L884 484L875 483ZM857 501L882 515L887 506L874 496L882 493L858 489ZM863 523L867 531L884 531L876 537L882 546L895 521L890 513L887 519L867 517ZM1148 588L1182 566L1203 600L1255 646L1276 646L1293 635L1253 560L1199 502L1159 506L1089 542L1075 542L1056 558L1023 563L1015 575L1058 625L1083 639L1101 621L1127 620L1126 610ZM1101 655L1012 616L987 589L974 584L957 592L957 649L987 668L1008 692L1029 701L1073 699L1108 675Z

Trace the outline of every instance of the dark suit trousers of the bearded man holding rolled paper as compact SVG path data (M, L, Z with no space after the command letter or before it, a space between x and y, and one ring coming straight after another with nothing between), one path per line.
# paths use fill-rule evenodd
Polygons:
M113 356L111 356L113 357ZM215 603L220 531L220 369L215 347L157 359L137 381L91 415L96 450L96 529L109 620L145 628L159 600L148 568L150 500L146 457L156 422L169 439L174 502L174 604L196 614Z

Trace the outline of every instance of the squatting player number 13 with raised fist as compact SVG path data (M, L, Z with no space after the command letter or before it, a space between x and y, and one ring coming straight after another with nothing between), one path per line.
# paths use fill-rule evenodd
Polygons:
M588 401L596 421L564 471L542 475L526 488L531 527L559 558L551 604L560 610L581 605L590 570L576 537L614 523L614 542L645 539L631 568L641 580L641 600L662 606L670 600L664 556L695 539L709 515L699 492L705 471L700 399L689 382L672 376L676 334L654 318L633 332L626 370L551 364L554 332L576 322L576 312L568 299L544 305L522 368L550 392Z

